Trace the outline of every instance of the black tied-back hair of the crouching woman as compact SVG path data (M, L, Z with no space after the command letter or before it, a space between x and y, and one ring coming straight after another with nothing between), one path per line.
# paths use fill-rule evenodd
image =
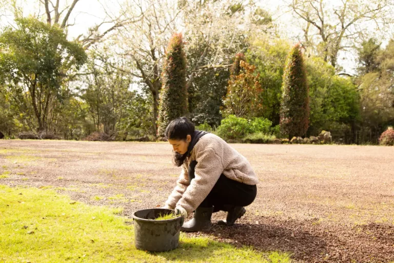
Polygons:
M194 123L189 121L186 117L181 117L175 120L172 120L170 124L168 124L166 131L164 132L164 135L166 136L167 139L169 140L184 140L186 141L186 138L188 135L191 136L193 139L193 134L194 134ZM176 166L181 166L183 162L185 161L187 155L189 154L189 151L187 151L185 154L179 154L177 152L174 153L174 163Z

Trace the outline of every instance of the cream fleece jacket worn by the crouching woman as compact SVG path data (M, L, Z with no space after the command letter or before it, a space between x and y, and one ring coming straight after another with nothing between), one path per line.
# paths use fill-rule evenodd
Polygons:
M195 177L189 184L188 166L194 160L198 163L194 170ZM166 205L171 209L182 206L188 214L204 201L222 173L245 184L259 182L248 160L214 134L201 137L181 167L181 175Z

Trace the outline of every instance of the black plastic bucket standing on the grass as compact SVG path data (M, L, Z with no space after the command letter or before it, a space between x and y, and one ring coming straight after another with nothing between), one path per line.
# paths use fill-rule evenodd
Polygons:
M169 251L178 248L183 217L154 220L160 215L174 212L161 208L135 212L133 214L135 247L146 251Z

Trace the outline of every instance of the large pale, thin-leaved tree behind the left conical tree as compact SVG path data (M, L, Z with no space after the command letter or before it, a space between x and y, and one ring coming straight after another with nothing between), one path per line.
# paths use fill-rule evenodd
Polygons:
M119 55L130 61L130 73L148 87L155 120L159 112L165 48L173 32L185 32L184 39L188 43L186 87L199 96L204 91L200 92L196 87L206 86L197 85L194 78L209 70L216 73L220 69L228 70L235 54L246 51L248 33L267 28L266 24L271 21L266 12L255 12L258 8L252 2L243 3L238 8L233 6L232 0L183 0L178 3L172 0L146 0L128 3L124 7L125 14L140 17L141 20L126 25L125 30L119 31L121 37L116 36L114 41L121 50ZM209 76L211 73L207 74ZM209 98L211 102L216 99ZM210 105L215 110L220 106L216 101ZM196 113L200 116L206 114Z

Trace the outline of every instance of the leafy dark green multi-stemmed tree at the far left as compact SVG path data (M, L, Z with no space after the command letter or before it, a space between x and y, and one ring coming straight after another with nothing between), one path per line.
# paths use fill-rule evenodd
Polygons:
M34 18L18 18L17 28L0 35L0 75L25 100L19 112L32 107L39 132L53 132L63 84L86 61L83 48L69 42L61 28ZM22 100L21 100L22 102ZM33 127L31 127L33 128Z

